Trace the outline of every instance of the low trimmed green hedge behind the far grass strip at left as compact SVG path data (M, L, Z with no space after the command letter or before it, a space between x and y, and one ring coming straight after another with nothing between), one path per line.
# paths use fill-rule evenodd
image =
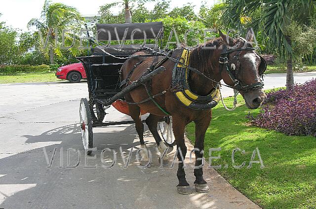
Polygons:
M31 72L50 72L52 71L48 65L31 66L31 65L9 65L0 66L0 74L12 75L17 73L31 73Z

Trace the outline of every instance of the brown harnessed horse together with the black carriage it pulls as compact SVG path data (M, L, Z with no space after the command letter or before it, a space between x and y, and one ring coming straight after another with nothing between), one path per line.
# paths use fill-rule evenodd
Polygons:
M239 92L250 109L258 108L266 97L262 91L266 62L252 46L250 31L246 38L231 38L219 32L220 37L205 45L172 51L162 51L158 47L163 34L160 22L99 24L97 31L96 39L108 43L116 40L119 45L100 45L91 38L97 44L93 54L78 58L84 65L89 90L89 101L81 99L80 102L84 149L91 153L92 127L130 123L135 123L140 150L146 149L144 121L140 115L149 112L145 122L156 140L159 159L162 164L168 160L168 149L160 143L162 139L170 146L175 141L179 160L177 189L180 194L191 194L184 171L183 160L187 153L184 132L186 125L194 122L197 157L194 184L197 192L208 192L202 176L204 136L211 121L211 108L220 100L220 81ZM143 39L144 43L123 44L123 40L133 42L135 39ZM146 44L149 39L155 39L156 44ZM235 101L236 96L237 93ZM130 115L133 121L103 122L105 109L111 105ZM140 151L140 154L142 160L148 159L147 151Z

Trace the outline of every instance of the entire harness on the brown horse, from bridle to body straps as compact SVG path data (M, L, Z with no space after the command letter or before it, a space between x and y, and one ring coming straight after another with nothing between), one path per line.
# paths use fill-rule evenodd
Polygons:
M236 38L240 38L244 41L246 41L245 39L243 39L242 37L236 37ZM98 44L97 44L98 45ZM115 48L113 48L115 49ZM115 49L118 50L118 49ZM192 68L189 66L189 58L190 58L190 50L183 48L182 54L178 59L174 59L171 57L171 53L172 51L169 51L169 53L163 53L163 52L157 52L154 51L148 47L143 47L140 50L144 50L149 52L149 54L145 54L145 55L137 55L137 56L129 56L128 58L131 57L153 57L153 56L164 56L164 58L158 62L156 65L152 65L148 71L152 71L155 68L157 68L159 65L161 65L164 61L166 61L167 59L172 60L173 62L175 62L175 66L172 70L172 85L171 88L169 89L170 91L173 91L175 93L176 98L184 105L192 108L192 109L197 109L197 110L204 110L204 109L211 109L213 107L215 107L219 100L221 99L220 96L220 82L215 81L211 78L209 78L208 76L204 75L202 72L200 72L199 70ZM137 50L137 51L140 51ZM223 45L223 50L221 53L221 56L219 58L219 72L221 73L223 70L226 70L230 76L230 78L232 79L232 81L234 82L234 86L229 86L229 85L225 85L225 84L221 84L224 86L227 86L229 88L234 89L236 92L237 91L241 91L241 92L248 92L250 90L255 90L255 89L261 89L263 88L264 83L262 81L260 82L256 82L253 84L249 84L249 85L242 85L241 81L237 79L237 72L240 71L240 60L239 60L239 55L240 52L243 50L255 50L254 47L242 47L242 48L238 48L238 49L228 49L226 45ZM104 50L102 50L104 51ZM124 51L124 50L122 50ZM237 66L232 62L232 60L229 60L229 54L232 52L238 51L238 53L234 56L233 61L237 61ZM136 51L135 51L136 52ZM107 53L106 51L104 51L104 53L109 54L112 57L115 57L114 55ZM265 72L265 70L267 69L267 63L266 60L260 56L258 53L257 55L260 57L261 59L261 63L259 66L259 75L262 77L263 79L263 73ZM124 58L126 59L126 58ZM133 73L133 71L141 64L142 62L136 64L134 66L134 69L132 69L129 73L129 75L127 76L127 78L121 82L121 86L123 86L124 84L127 85L127 82L131 76L131 74ZM154 63L153 63L154 64ZM231 64L231 68L229 68L229 65ZM195 93L193 93L190 89L190 85L189 85L189 73L190 70L193 72L196 72L197 74L207 78L210 81L213 81L216 83L215 88L207 95L207 96L199 96L196 95ZM147 71L147 72L148 72ZM146 73L145 73L146 74ZM170 113L168 113L166 110L164 110L155 100L154 98L156 96L159 96L161 94L166 93L166 91L164 91L163 93L159 93L158 95L154 95L152 96L150 90L147 88L146 84L144 84L147 94L149 96L148 99L135 103L135 104L141 104L144 102L147 102L149 100L153 101L154 104L156 104L159 109L164 112L166 115L170 115ZM236 96L237 94L235 94L235 100L236 100ZM222 101L223 102L223 101ZM225 106L225 105L224 105Z

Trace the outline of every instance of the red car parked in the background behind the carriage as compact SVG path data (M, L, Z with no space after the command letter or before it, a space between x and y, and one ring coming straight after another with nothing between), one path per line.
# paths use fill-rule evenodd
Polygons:
M87 78L82 63L74 63L58 68L56 77L67 79L72 83L78 83L81 78Z

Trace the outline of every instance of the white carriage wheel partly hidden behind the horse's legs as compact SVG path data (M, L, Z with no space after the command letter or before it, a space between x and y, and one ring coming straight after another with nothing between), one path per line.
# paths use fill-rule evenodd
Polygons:
M164 140L169 146L175 145L175 137L172 130L172 117L166 117L167 121L158 122L158 133L160 134L161 139Z

